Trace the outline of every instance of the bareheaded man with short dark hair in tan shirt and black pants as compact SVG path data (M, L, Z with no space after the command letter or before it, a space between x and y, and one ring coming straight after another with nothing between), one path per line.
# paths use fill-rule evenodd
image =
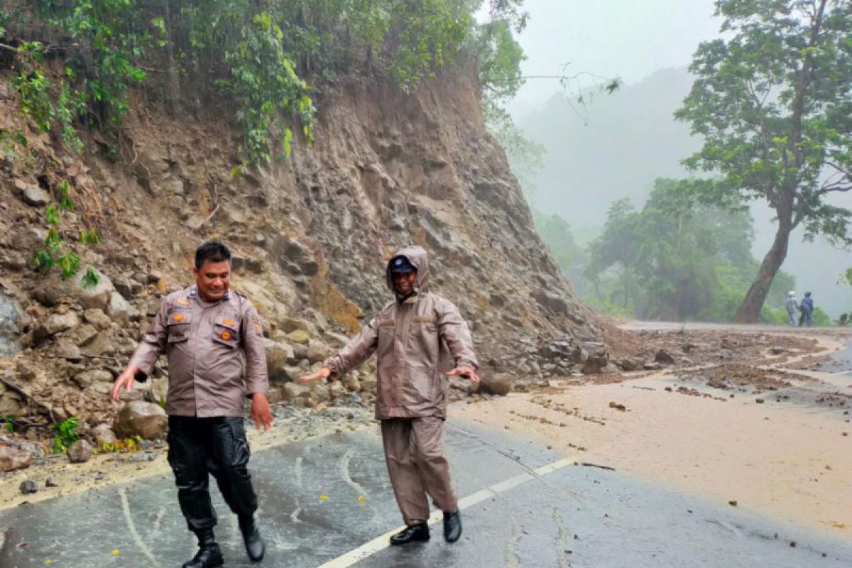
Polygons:
M199 539L199 553L184 568L211 568L223 563L213 527L210 473L222 497L239 517L245 549L254 562L265 545L254 513L257 497L246 466L243 404L251 399L251 419L269 429L272 415L266 398L268 376L261 320L244 296L228 290L231 253L211 241L195 251L195 285L168 295L130 363L112 385L112 398L145 381L160 353L169 359L169 463L175 473L177 499L189 530ZM243 355L247 379L242 379Z

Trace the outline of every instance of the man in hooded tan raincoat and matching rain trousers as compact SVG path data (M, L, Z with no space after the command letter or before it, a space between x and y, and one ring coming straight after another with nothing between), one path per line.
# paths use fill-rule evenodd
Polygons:
M387 284L396 295L364 330L322 369L302 382L341 376L378 358L376 417L382 422L384 454L406 529L391 544L429 540L429 502L444 512L444 537L458 541L462 519L444 457L446 376L478 382L479 364L468 325L451 301L429 292L426 251L406 247L388 263ZM452 357L446 374L440 361Z

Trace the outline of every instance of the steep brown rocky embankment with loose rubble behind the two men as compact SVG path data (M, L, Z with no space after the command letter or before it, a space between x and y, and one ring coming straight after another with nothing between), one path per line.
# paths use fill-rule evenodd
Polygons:
M8 439L44 449L55 425L72 417L95 447L110 443L107 430L138 432L115 423L118 405L107 393L163 296L191 283L193 250L205 238L231 245L233 288L262 314L275 404L370 404L374 364L330 385L294 379L388 301L384 263L411 243L429 250L435 291L468 319L488 392L613 370L605 324L561 277L486 133L472 68L407 95L353 79L317 105L314 146L294 141L290 158L263 171L234 168L239 135L222 118L230 110L166 109L147 92L135 95L117 139L84 132L85 149L75 154L21 114L0 68L0 415ZM65 191L73 209L49 225L46 210ZM103 241L80 244L91 227ZM28 266L49 228L61 250L79 256L75 278ZM89 267L100 282L84 289ZM122 404L154 422L162 422L164 364L123 394ZM467 396L467 385L458 387L455 396Z

